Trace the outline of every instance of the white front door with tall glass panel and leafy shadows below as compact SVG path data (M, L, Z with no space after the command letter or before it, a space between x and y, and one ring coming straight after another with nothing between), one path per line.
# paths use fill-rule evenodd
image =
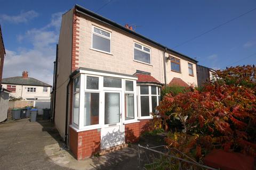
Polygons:
M101 129L101 149L124 143L124 127L122 122L122 92L104 92L105 123Z

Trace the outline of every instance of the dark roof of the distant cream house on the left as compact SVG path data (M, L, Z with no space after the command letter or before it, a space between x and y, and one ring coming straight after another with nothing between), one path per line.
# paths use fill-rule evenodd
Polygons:
M23 78L23 77L5 78L5 79L2 79L2 84L20 84L20 85L29 85L29 86L52 87L50 84L44 83L34 78Z

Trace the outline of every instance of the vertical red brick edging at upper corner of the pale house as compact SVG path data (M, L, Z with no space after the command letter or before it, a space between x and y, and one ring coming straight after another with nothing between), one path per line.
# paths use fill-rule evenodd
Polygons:
M76 54L76 52L79 52L78 47L78 40L79 40L79 18L76 15L76 12L74 11L73 14L73 39L72 39L72 61L71 61L71 71L78 69L78 61L79 61L79 55Z

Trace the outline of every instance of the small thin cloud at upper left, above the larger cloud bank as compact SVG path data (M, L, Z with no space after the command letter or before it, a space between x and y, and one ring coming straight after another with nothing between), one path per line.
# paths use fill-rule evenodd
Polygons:
M36 18L38 16L38 13L31 10L31 11L27 11L27 12L20 12L20 14L18 15L6 15L6 14L1 14L0 15L0 19L2 21L7 21L10 23L26 23L29 20L32 20L34 18Z

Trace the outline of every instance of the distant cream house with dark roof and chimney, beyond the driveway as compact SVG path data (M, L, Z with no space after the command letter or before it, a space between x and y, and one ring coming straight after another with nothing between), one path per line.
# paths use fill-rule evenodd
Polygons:
M23 71L22 77L11 77L2 80L3 87L11 91L10 96L22 100L49 100L51 85L28 77Z

